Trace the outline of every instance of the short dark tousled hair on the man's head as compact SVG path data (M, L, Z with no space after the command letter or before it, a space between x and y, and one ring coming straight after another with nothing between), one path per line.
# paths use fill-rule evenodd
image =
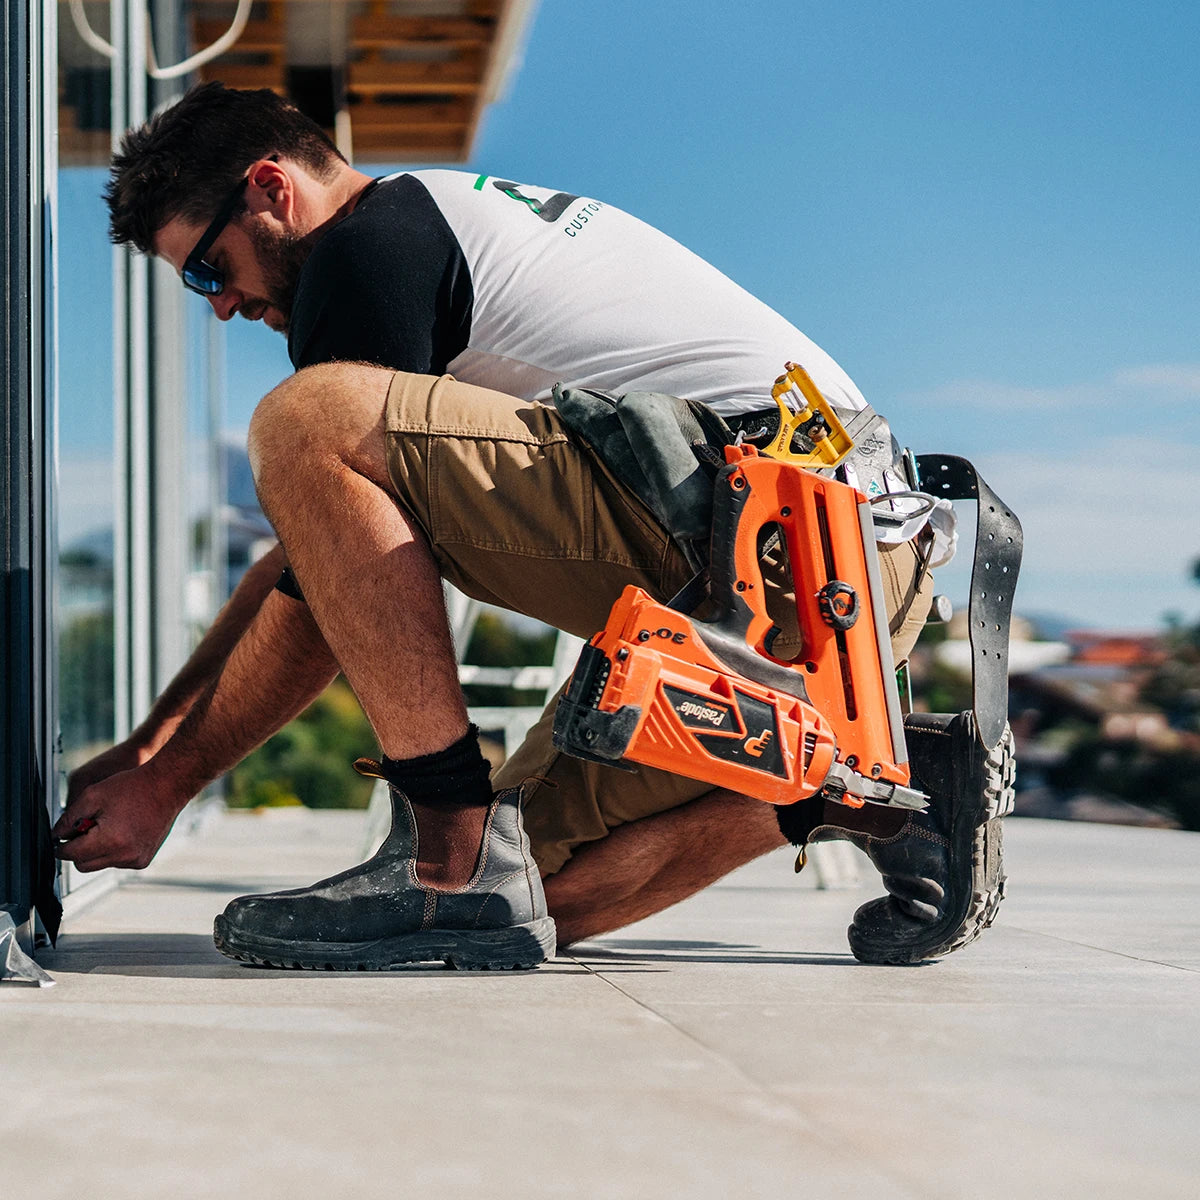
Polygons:
M208 223L246 168L272 154L318 179L346 161L319 125L274 91L192 88L121 138L104 188L109 236L152 253L155 234L168 221Z

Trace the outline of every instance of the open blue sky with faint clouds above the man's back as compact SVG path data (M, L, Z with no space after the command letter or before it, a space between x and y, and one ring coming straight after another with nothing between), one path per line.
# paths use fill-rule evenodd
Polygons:
M1154 628L1200 613L1198 60L1162 0L542 0L468 169L659 226L976 461L1019 610ZM235 330L230 426L287 371Z

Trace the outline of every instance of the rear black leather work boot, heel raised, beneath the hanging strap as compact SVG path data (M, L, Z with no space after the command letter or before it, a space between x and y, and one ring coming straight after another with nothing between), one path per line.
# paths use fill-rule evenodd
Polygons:
M913 713L905 740L926 811L826 803L814 821L778 810L793 844L853 842L883 876L888 895L863 905L847 930L863 962L919 962L960 949L992 923L1004 898L1000 818L1013 811L1012 731L1006 726L989 752L970 712Z

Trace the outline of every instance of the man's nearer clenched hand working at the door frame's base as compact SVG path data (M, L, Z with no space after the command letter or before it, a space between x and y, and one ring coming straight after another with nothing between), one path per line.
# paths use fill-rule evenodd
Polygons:
M188 799L157 774L150 760L77 793L72 778L73 794L53 829L58 857L74 863L80 871L149 866Z

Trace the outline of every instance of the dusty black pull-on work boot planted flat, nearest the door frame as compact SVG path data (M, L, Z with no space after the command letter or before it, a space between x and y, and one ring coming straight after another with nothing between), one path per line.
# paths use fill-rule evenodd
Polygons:
M444 961L463 970L529 968L554 954L541 876L521 822L521 791L497 793L474 875L458 888L416 876L416 820L391 793L391 832L367 862L310 888L241 896L212 940L242 962L325 971L386 971Z

